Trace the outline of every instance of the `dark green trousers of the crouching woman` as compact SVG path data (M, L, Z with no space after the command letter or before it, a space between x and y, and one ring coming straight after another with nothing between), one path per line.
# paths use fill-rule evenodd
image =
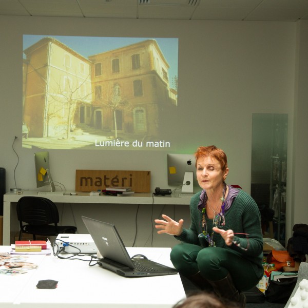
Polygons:
M170 259L175 268L186 277L200 272L203 278L218 281L230 274L240 291L251 289L260 280L250 261L226 248L203 248L181 243L172 248Z

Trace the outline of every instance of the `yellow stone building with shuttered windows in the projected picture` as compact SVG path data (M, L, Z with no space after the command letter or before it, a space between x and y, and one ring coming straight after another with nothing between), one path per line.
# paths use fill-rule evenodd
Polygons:
M177 91L169 86L169 65L156 40L87 59L45 37L24 53L23 121L29 137L68 139L85 124L115 138L157 140L176 113Z

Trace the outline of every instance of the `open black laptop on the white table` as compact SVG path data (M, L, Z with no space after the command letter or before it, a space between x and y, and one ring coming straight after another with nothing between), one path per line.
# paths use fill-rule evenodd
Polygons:
M95 245L102 255L98 264L125 277L148 277L177 274L175 268L143 258L130 258L113 224L82 216Z

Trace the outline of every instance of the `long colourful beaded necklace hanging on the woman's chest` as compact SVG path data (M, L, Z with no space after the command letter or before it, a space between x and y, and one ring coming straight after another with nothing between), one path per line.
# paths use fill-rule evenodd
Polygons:
M214 211L214 218L213 218L213 226L215 227L222 227L225 225L225 217L224 217L224 209L225 209L225 193L226 193L226 188L227 185L226 183L224 183L223 186L223 191L222 191L222 197L220 198L220 200L222 201L222 205L221 205L221 209L220 209L220 213L217 213L217 209L219 207L219 205L217 206L216 210L214 210L209 202L208 202L208 206L211 210ZM214 237L214 231L211 232L211 234L209 235L209 233L207 232L207 224L206 224L206 203L208 201L207 195L204 198L204 207L202 208L202 227L203 227L203 232L200 233L198 235L199 238L205 238L206 241L208 242L208 245L210 247L214 247L215 246L215 242L213 241L213 237Z

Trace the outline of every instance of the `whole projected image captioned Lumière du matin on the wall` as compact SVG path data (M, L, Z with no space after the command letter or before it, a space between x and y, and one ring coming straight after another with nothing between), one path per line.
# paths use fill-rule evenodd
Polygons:
M178 39L23 37L23 147L172 149Z

